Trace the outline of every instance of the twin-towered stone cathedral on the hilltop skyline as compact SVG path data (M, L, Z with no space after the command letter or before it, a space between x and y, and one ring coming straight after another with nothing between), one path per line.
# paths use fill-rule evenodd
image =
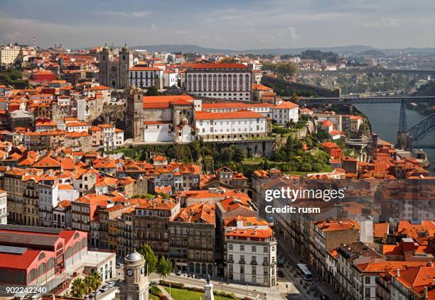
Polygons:
M121 50L104 45L98 55L100 84L114 89L128 86L129 70L134 66L133 51L126 45Z

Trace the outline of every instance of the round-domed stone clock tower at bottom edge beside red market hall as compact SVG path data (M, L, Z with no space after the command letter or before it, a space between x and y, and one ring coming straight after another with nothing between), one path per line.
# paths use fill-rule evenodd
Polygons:
M117 300L149 300L149 280L145 260L136 250L124 259L124 282L119 286Z

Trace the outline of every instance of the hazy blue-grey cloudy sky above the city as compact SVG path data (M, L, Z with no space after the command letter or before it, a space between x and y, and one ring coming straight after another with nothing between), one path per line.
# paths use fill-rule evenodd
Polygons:
M434 0L0 0L0 44L435 47Z

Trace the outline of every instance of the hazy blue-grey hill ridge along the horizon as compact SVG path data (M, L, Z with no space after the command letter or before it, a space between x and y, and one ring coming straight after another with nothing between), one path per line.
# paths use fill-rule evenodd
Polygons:
M222 53L222 54L237 54L237 53L252 53L257 55L262 54L289 54L299 55L306 50L321 50L323 52L335 52L338 54L358 54L370 50L382 51L387 54L397 54L399 52L414 52L419 54L435 54L435 48L404 48L404 49L380 49L365 45L350 45L337 47L309 47L309 48L264 48L264 49L247 49L247 50L232 50L218 48L204 48L198 45L139 45L134 46L134 49L148 50L149 52L193 52L193 53Z

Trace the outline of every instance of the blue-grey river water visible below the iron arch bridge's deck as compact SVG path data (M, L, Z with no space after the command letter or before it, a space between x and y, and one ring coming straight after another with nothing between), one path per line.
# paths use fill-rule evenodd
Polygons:
M372 125L373 132L377 133L379 138L393 144L396 143L400 104L358 104L355 107L367 116ZM408 128L418 123L424 117L417 111L407 110ZM428 135L419 140L414 145L414 148L422 149L426 152L431 162L431 174L434 175L435 172L432 168L435 165L435 130L432 130Z

